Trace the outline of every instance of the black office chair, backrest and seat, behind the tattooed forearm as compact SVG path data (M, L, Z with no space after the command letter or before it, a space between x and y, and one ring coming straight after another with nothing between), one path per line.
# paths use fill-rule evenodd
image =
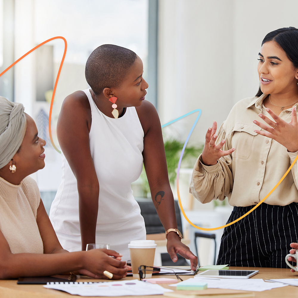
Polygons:
M162 223L157 215L157 212L153 205L152 200L136 198L136 201L138 202L141 208L141 214L144 217L146 233L147 234L164 233L165 232L164 227L162 226ZM180 215L180 208L179 208L178 201L175 201L175 212L176 212L178 230L181 231L182 233L182 222L181 222L181 215ZM178 260L176 263L174 263L171 260L170 255L167 253L161 254L161 258L162 258L163 266L189 266L189 264L184 259L184 257L181 257L179 254L177 254Z

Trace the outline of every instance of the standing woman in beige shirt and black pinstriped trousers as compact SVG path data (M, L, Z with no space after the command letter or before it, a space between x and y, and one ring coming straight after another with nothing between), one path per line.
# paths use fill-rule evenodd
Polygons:
M190 185L202 203L228 198L227 223L258 204L298 154L298 30L268 33L258 60L257 95L236 103L218 134L213 122ZM263 204L224 229L218 264L286 268L288 245L297 242L297 181L294 164Z

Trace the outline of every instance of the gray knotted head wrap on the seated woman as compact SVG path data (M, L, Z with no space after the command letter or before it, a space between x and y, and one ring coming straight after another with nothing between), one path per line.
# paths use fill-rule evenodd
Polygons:
M26 125L24 106L0 96L0 169L10 162L20 148Z

